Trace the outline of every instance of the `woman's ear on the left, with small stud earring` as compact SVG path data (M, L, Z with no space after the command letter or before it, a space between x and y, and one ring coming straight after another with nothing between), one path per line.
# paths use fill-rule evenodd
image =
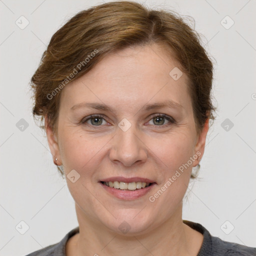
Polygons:
M50 152L53 157L53 162L55 162L55 158L57 158L57 165L62 165L57 138L52 128L49 126L47 115L44 116L44 127L47 135Z

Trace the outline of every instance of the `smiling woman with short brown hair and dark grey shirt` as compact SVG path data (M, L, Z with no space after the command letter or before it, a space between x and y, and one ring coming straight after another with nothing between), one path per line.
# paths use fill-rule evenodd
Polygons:
M204 152L212 63L178 15L139 3L81 11L31 78L79 226L29 255L255 255L182 220Z

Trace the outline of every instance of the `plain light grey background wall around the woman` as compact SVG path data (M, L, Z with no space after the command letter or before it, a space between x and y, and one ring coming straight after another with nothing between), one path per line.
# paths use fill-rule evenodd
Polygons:
M52 34L67 18L98 3L103 1L0 0L0 255L24 255L56 243L78 225L66 181L32 118L28 82ZM145 3L192 16L216 61L218 112L208 132L201 180L187 190L183 219L226 241L256 246L256 1ZM24 29L15 23L21 15L29 21ZM231 24L227 15L234 21L229 29L223 26ZM16 126L21 118L28 123L23 131ZM228 131L221 127L226 118L234 124ZM21 220L29 226L24 234L16 229Z

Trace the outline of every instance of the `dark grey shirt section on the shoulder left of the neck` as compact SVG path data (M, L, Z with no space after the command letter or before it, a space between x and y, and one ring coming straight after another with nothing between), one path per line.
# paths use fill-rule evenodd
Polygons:
M25 256L64 256L67 240L79 232L79 226L73 228L57 243L33 251Z

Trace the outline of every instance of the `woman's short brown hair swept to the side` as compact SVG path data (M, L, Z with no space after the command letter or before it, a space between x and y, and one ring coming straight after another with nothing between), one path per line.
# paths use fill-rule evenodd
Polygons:
M174 11L149 9L131 1L107 2L82 10L53 34L30 81L33 117L40 116L40 127L45 128L42 121L46 115L56 132L60 89L69 80L88 72L113 50L150 43L165 46L188 76L196 131L200 132L207 118L215 118L215 107L211 102L213 66L199 34ZM78 63L85 64L77 71ZM74 69L76 73L71 75Z

